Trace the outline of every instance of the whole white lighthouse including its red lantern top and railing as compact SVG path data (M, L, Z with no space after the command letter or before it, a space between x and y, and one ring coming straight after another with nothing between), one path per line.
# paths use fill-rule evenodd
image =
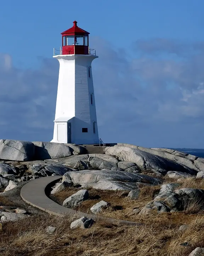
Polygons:
M98 127L89 48L89 32L74 26L62 32L53 140L58 143L98 144Z

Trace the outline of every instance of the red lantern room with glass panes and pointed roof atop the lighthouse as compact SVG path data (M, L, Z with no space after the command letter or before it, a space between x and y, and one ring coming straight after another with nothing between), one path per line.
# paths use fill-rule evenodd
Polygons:
M89 32L77 26L62 32L62 55L65 54L89 54Z

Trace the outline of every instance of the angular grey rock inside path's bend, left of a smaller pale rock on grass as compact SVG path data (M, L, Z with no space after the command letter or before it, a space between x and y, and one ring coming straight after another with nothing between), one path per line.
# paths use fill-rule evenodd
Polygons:
M63 206L68 208L77 207L88 198L89 198L88 190L79 190L77 193L65 199L63 202Z

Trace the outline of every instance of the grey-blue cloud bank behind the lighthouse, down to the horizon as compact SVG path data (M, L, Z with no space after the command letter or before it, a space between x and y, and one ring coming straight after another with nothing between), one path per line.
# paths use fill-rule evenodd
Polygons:
M138 40L131 53L92 38L98 129L105 142L204 148L204 42ZM0 54L0 134L50 141L58 62L18 69Z

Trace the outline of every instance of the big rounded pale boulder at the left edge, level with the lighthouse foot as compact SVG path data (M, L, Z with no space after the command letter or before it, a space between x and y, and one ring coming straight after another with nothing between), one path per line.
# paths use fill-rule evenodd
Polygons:
M0 159L31 161L34 157L34 144L22 140L0 140Z

